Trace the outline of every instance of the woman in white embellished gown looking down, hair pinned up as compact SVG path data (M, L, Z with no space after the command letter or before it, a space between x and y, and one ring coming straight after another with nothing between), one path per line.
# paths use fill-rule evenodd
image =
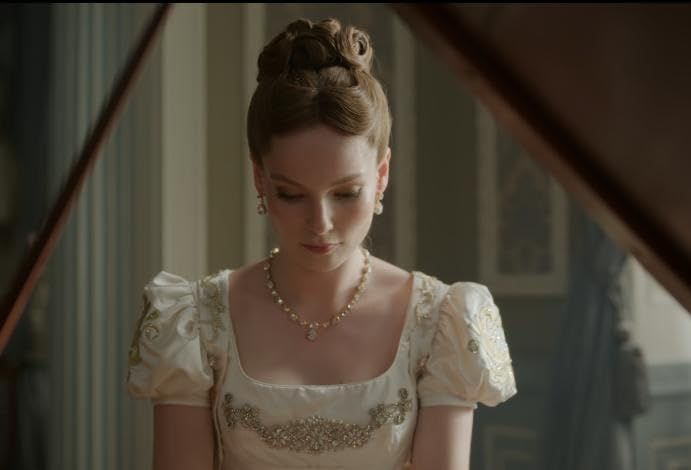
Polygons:
M259 56L247 132L279 248L145 288L129 391L157 469L466 469L473 409L516 393L486 287L370 256L391 118L368 36L288 25Z

